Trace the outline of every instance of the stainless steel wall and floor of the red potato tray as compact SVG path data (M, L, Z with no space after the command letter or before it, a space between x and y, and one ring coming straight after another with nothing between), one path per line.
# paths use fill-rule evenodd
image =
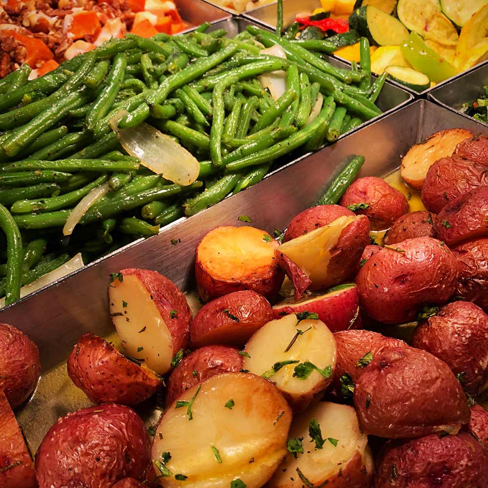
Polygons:
M31 449L37 449L59 416L89 405L86 396L67 377L66 359L85 332L111 336L113 340L114 327L107 306L110 273L127 267L155 269L182 290L191 290L195 247L212 228L241 225L238 217L248 215L252 225L264 230L283 229L293 216L317 201L342 169L346 157L351 154L366 157L360 176L386 175L399 166L401 155L412 144L452 127L488 134L488 127L439 105L424 100L411 103L332 146L289 163L273 178L1 310L0 322L20 327L41 352L41 381L33 398L18 412ZM173 239L181 242L173 245ZM148 424L154 423L159 415L150 402L138 411Z

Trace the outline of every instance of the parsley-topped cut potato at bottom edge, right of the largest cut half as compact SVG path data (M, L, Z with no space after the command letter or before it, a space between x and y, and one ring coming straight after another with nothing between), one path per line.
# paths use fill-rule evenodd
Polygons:
M308 434L310 421L320 426L322 449L316 449ZM373 473L373 458L367 437L361 432L354 408L331 402L320 402L293 418L290 438L303 438L304 453L286 455L266 488L301 488L304 482L297 468L314 486L368 488ZM327 439L337 441L334 446Z

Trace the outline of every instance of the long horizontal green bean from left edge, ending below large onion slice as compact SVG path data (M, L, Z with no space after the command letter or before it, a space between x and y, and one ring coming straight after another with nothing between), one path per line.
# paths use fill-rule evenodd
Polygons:
M0 171L25 171L28 169L52 169L63 171L133 171L139 163L133 160L106 161L102 159L65 159L58 161L25 160L0 166ZM1 178L1 177L0 177Z

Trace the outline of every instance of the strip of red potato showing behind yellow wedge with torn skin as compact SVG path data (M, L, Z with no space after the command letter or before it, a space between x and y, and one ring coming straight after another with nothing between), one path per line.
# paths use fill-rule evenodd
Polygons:
M354 212L341 205L317 205L299 213L292 219L285 232L284 241L303 236L319 227L328 225L339 217L354 216Z

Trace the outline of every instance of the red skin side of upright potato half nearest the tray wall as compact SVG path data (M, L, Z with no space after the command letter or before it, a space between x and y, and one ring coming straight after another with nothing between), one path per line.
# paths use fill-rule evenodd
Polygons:
M190 336L190 322L192 314L186 298L171 280L157 271L149 269L127 268L120 271L123 276L135 275L153 297L155 305L171 333L173 351L185 349ZM171 316L171 310L176 310L177 316Z

